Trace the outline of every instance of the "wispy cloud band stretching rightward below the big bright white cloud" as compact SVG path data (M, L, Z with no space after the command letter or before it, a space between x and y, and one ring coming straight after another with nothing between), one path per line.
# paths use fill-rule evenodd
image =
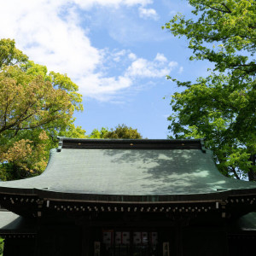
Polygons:
M177 62L167 61L166 56L160 53L155 56L153 61L137 58L134 53L128 51L119 53L122 55L122 61L130 61L130 65L118 77L106 77L103 73L92 73L79 79L79 84L87 84L81 88L84 95L90 95L100 101L109 101L114 95L119 95L137 84L138 81L141 84L142 81L145 82L144 79L150 79L152 84L154 79L164 79L166 74L171 73L172 69L177 67ZM119 63L117 62L116 67L118 66Z

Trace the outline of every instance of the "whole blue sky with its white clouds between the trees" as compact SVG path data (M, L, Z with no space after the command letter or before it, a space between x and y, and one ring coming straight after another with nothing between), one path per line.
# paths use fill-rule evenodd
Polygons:
M180 90L166 75L207 73L206 62L189 61L186 40L161 29L191 10L185 0L9 0L1 4L0 37L79 85L84 112L76 125L87 133L125 124L166 138L170 96Z

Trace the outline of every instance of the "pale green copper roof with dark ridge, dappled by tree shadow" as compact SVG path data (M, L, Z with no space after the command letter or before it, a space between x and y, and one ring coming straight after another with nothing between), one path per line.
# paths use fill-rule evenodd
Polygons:
M1 183L0 192L5 188L39 189L55 195L157 197L256 189L256 183L224 177L200 140L63 139L59 149L51 150L42 175Z

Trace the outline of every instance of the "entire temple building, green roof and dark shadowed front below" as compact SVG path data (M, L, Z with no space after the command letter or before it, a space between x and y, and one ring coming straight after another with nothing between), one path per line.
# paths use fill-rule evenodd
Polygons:
M3 255L255 255L255 201L202 140L61 137L43 174L0 183Z

